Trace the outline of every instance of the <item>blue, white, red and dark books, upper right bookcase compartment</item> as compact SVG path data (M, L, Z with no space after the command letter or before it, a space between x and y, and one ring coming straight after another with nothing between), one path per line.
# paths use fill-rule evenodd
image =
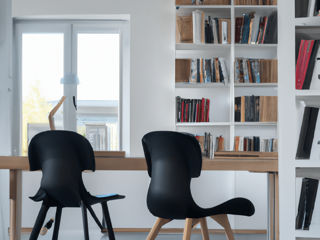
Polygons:
M235 43L277 43L277 14L262 17L256 12L245 13L235 19Z

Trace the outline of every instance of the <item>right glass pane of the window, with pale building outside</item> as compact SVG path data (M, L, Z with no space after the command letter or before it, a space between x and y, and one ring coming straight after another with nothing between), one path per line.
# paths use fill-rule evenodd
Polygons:
M78 34L77 51L77 132L108 126L105 149L119 150L119 34Z

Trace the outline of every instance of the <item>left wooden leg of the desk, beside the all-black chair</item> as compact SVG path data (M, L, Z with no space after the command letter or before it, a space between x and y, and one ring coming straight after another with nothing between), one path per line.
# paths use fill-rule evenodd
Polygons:
M21 238L22 171L10 170L10 240Z

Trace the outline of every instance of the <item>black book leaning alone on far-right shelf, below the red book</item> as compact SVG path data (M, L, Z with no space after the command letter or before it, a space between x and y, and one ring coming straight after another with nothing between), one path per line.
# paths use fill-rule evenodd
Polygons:
M304 108L296 159L310 158L311 147L312 147L312 142L315 135L318 113L319 113L319 108L314 108L314 107Z

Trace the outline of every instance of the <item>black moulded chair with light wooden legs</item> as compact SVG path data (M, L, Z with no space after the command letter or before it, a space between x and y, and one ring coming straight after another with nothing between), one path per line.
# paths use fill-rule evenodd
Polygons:
M161 227L173 219L186 219L184 240L190 239L191 228L199 222L204 240L209 240L208 216L225 228L228 240L234 239L227 214L252 216L254 206L246 198L233 198L205 209L195 203L190 182L201 172L199 141L185 133L158 131L144 135L142 146L151 177L147 206L158 217L147 240L155 239Z

